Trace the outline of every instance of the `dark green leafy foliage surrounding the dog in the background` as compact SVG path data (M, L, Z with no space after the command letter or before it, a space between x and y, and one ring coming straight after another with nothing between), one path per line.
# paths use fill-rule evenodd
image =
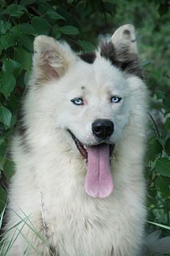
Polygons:
M30 75L34 37L50 35L65 39L76 51L92 51L102 35L132 23L151 91L146 156L148 218L169 226L169 20L166 0L144 0L142 4L137 0L0 1L0 211L6 205L6 177L10 181L14 173L7 148Z

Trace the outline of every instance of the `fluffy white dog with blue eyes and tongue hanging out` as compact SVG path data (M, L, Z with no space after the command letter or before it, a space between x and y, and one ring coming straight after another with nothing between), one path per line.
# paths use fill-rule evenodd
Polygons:
M147 109L132 25L84 54L35 38L11 149L3 255L152 255L144 242Z

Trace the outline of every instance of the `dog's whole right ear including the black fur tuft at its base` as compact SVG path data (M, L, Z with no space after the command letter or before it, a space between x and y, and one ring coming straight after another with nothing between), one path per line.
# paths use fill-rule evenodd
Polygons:
M101 43L101 56L128 74L142 78L137 56L136 35L132 25L119 27L109 43Z

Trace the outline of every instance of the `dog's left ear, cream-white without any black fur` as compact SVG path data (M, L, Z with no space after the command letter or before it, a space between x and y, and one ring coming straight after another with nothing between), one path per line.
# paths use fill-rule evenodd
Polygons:
M76 55L67 43L58 43L45 35L34 39L33 71L37 81L60 78L75 59Z

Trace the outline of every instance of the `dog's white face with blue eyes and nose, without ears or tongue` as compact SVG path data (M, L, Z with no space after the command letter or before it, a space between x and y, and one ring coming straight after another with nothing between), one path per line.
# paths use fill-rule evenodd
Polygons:
M130 108L130 90L121 71L101 57L93 64L78 59L56 89L58 127L69 130L86 147L117 143Z

